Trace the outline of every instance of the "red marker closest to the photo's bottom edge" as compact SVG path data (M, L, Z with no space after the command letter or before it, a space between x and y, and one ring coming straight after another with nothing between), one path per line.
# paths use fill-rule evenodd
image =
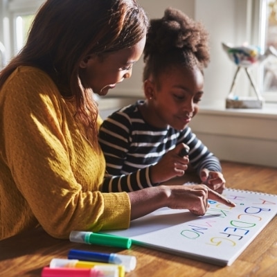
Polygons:
M116 267L105 269L103 266L93 269L44 267L42 277L118 277L118 271Z

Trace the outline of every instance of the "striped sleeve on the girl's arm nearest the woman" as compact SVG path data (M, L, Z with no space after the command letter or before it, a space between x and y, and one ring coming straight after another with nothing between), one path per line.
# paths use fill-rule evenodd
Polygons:
M100 126L99 143L106 160L103 192L129 192L153 186L150 180L151 167L140 168L131 173L123 170L132 143L131 132L131 120L120 111L109 116Z

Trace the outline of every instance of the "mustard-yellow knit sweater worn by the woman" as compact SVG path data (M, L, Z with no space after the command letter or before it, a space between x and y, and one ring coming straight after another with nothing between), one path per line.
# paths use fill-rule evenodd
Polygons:
M105 159L73 113L39 69L21 66L2 87L0 240L39 224L55 238L129 226L129 197L98 191Z

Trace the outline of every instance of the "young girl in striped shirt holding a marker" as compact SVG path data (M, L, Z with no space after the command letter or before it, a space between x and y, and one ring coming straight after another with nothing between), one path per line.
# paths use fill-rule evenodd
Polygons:
M106 180L103 191L157 186L184 175L190 163L204 184L222 193L220 161L188 127L199 110L209 57L204 26L180 10L168 8L151 21L144 49L146 99L111 114L100 127L106 175L123 175ZM182 148L188 156L180 155Z

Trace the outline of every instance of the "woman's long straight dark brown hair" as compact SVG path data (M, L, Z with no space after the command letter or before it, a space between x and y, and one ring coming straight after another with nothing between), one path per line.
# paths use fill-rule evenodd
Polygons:
M26 45L1 71L0 88L17 66L36 66L53 78L62 96L75 99L76 116L97 135L98 107L80 81L80 62L89 54L134 46L147 30L148 17L136 0L48 0Z

